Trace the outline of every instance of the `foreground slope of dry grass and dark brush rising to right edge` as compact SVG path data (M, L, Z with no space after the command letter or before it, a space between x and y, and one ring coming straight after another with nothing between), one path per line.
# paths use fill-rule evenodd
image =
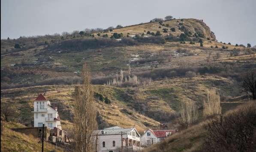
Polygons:
M255 102L255 101L253 101ZM145 152L250 152L256 141L256 104L243 104L145 149ZM245 137L246 136L246 137Z

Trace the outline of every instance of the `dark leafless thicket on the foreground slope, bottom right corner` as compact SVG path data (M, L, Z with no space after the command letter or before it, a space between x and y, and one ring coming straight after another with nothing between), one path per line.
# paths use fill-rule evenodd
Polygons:
M256 104L212 119L205 125L207 136L203 151L251 152L256 149Z

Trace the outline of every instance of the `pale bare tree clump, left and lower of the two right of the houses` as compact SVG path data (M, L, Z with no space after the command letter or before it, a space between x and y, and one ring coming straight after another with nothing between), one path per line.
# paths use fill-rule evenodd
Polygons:
M179 124L182 128L188 128L198 119L198 110L196 104L191 100L184 100L181 102L181 117Z

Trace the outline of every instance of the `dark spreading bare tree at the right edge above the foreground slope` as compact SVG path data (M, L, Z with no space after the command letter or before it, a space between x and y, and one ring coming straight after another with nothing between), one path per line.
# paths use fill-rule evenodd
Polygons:
M256 99L256 71L249 71L243 77L242 91Z

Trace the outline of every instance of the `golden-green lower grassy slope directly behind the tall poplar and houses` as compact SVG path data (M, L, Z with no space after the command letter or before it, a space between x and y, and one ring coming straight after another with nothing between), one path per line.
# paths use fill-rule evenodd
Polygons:
M143 131L146 127L159 125L160 121L166 122L174 119L160 119L161 117L157 114L166 113L172 116L178 111L179 102L186 98L192 99L201 107L203 98L205 98L205 90L213 86L217 87L220 92L226 92L226 95L239 95L239 90L232 89L236 87L235 83L223 77L212 76L159 80L152 82L151 87L145 86L139 90L94 85L94 91L111 100L111 104L96 101L96 107L104 122L122 127L135 126L139 131ZM43 92L43 90L47 91L46 98L58 106L64 128L72 125L74 86L36 86L1 90L1 102L12 103L13 108L21 114L21 122L29 125L33 100L37 92ZM227 90L232 90L232 92ZM229 103L223 106L223 110L228 110L230 107ZM132 113L122 112L123 108Z

